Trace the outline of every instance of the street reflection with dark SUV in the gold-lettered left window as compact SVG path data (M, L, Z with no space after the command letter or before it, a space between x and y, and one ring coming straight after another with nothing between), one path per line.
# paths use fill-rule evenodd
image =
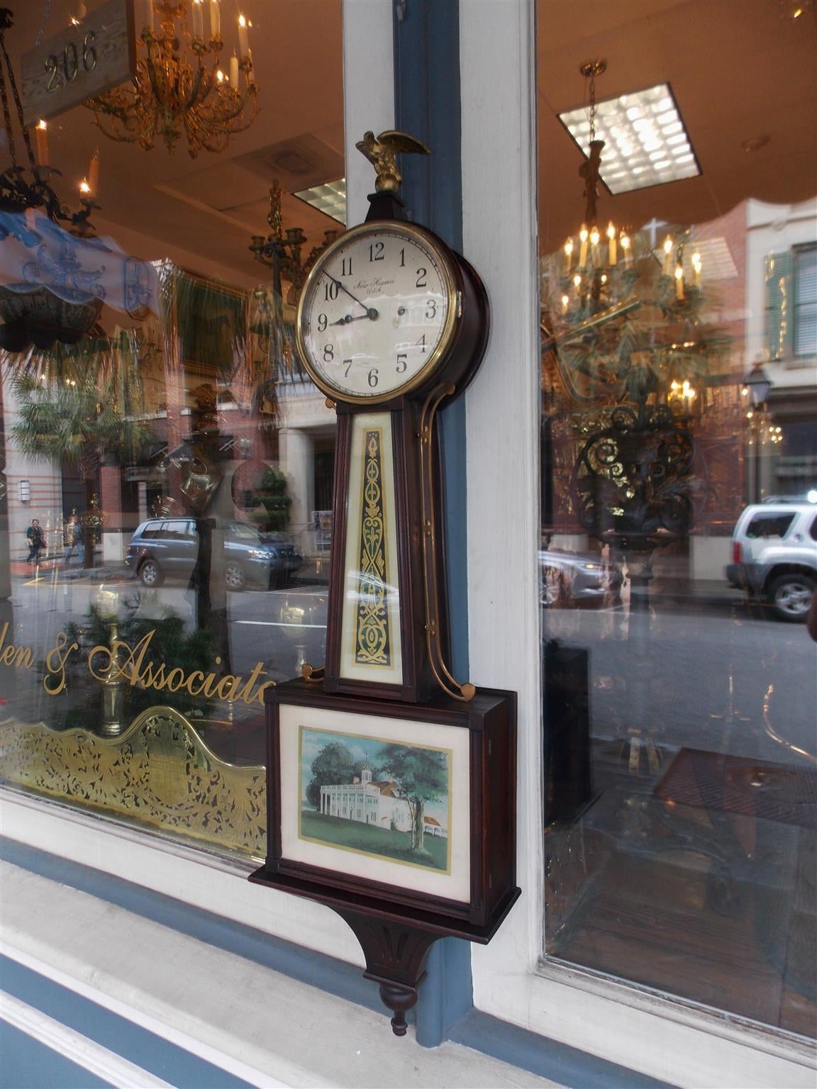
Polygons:
M289 319L273 335L249 293L156 272L157 317L3 359L14 468L34 484L11 497L9 631L44 674L7 706L114 736L161 703L260 763L264 686L322 661L326 625L328 535L293 525L281 467ZM57 699L37 682L72 645Z

